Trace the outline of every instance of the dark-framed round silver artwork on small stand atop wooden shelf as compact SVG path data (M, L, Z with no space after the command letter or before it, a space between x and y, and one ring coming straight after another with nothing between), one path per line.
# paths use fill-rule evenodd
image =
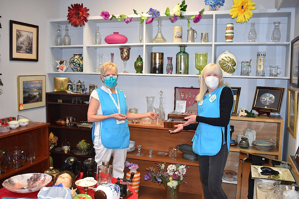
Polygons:
M284 90L285 88L257 86L252 109L280 113Z

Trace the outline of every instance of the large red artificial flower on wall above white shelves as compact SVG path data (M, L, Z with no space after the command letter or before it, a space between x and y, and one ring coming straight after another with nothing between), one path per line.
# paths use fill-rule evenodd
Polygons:
M71 7L69 8L69 14L68 14L68 20L69 23L71 23L72 26L78 27L79 25L82 27L84 24L84 21L87 22L87 17L89 16L89 9L86 7L83 8L83 3L81 5L79 3L71 4Z

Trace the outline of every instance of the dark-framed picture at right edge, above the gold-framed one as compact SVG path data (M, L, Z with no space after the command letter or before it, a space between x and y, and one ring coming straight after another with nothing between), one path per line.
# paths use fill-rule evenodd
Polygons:
M299 65L299 36L292 40L291 44L291 74L290 84L298 87L298 65Z

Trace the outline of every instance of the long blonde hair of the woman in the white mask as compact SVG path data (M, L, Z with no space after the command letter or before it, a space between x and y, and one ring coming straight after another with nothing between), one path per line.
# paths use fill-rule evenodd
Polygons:
M215 72L219 76L219 85L221 86L229 86L229 84L225 81L223 81L223 75L222 75L222 69L218 64L215 63L209 63L207 64L203 69L202 73L199 76L199 94L195 97L196 101L202 100L203 96L206 94L206 91L208 90L208 87L206 86L205 78L204 76L210 72Z

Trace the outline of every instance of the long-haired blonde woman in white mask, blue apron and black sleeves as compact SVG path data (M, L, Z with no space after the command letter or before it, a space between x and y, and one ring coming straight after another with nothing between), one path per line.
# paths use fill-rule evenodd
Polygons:
M230 115L234 94L223 81L222 69L214 63L206 65L199 78L200 92L196 96L198 115L185 117L186 123L177 129L195 130L193 152L198 156L200 177L205 199L227 198L222 189L222 176L230 150Z

